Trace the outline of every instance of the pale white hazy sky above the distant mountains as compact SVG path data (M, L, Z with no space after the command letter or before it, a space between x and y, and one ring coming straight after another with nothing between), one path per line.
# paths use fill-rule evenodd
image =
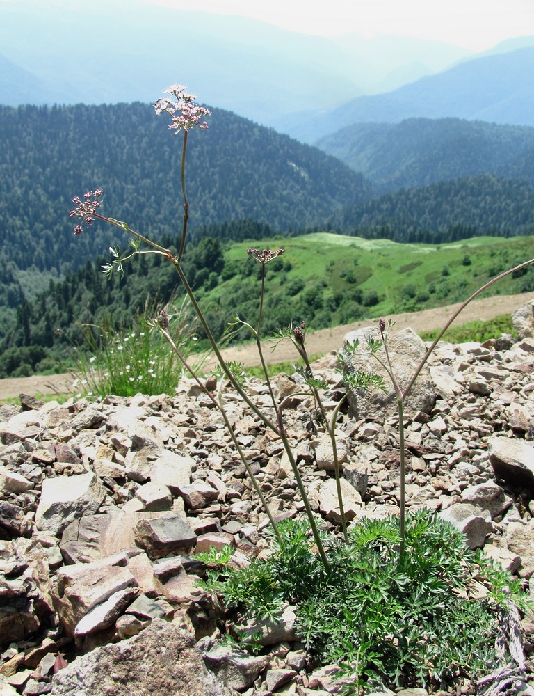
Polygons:
M357 31L416 36L477 51L534 35L534 0L143 0L147 3L242 15L282 29L324 36Z

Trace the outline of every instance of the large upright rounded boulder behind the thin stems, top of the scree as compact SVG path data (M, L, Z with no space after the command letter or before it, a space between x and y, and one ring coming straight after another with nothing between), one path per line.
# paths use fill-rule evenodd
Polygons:
M368 326L357 331L350 331L345 335L345 341L353 344L359 341L359 349L355 351L351 364L356 372L372 372L384 379L385 391L377 388L358 388L348 395L350 412L355 418L390 418L396 416L397 402L394 387L389 376L382 366L387 363L385 349L382 348L376 354L380 361L371 357L367 349L368 340L380 340L380 332L377 328ZM412 379L416 367L426 353L426 347L419 336L412 329L404 329L398 333L391 333L387 338L387 347L391 365L394 367L395 377L401 387L405 389ZM436 402L436 390L430 377L430 371L425 365L418 379L410 390L410 395L405 402L405 414L413 416L419 411L430 413Z

